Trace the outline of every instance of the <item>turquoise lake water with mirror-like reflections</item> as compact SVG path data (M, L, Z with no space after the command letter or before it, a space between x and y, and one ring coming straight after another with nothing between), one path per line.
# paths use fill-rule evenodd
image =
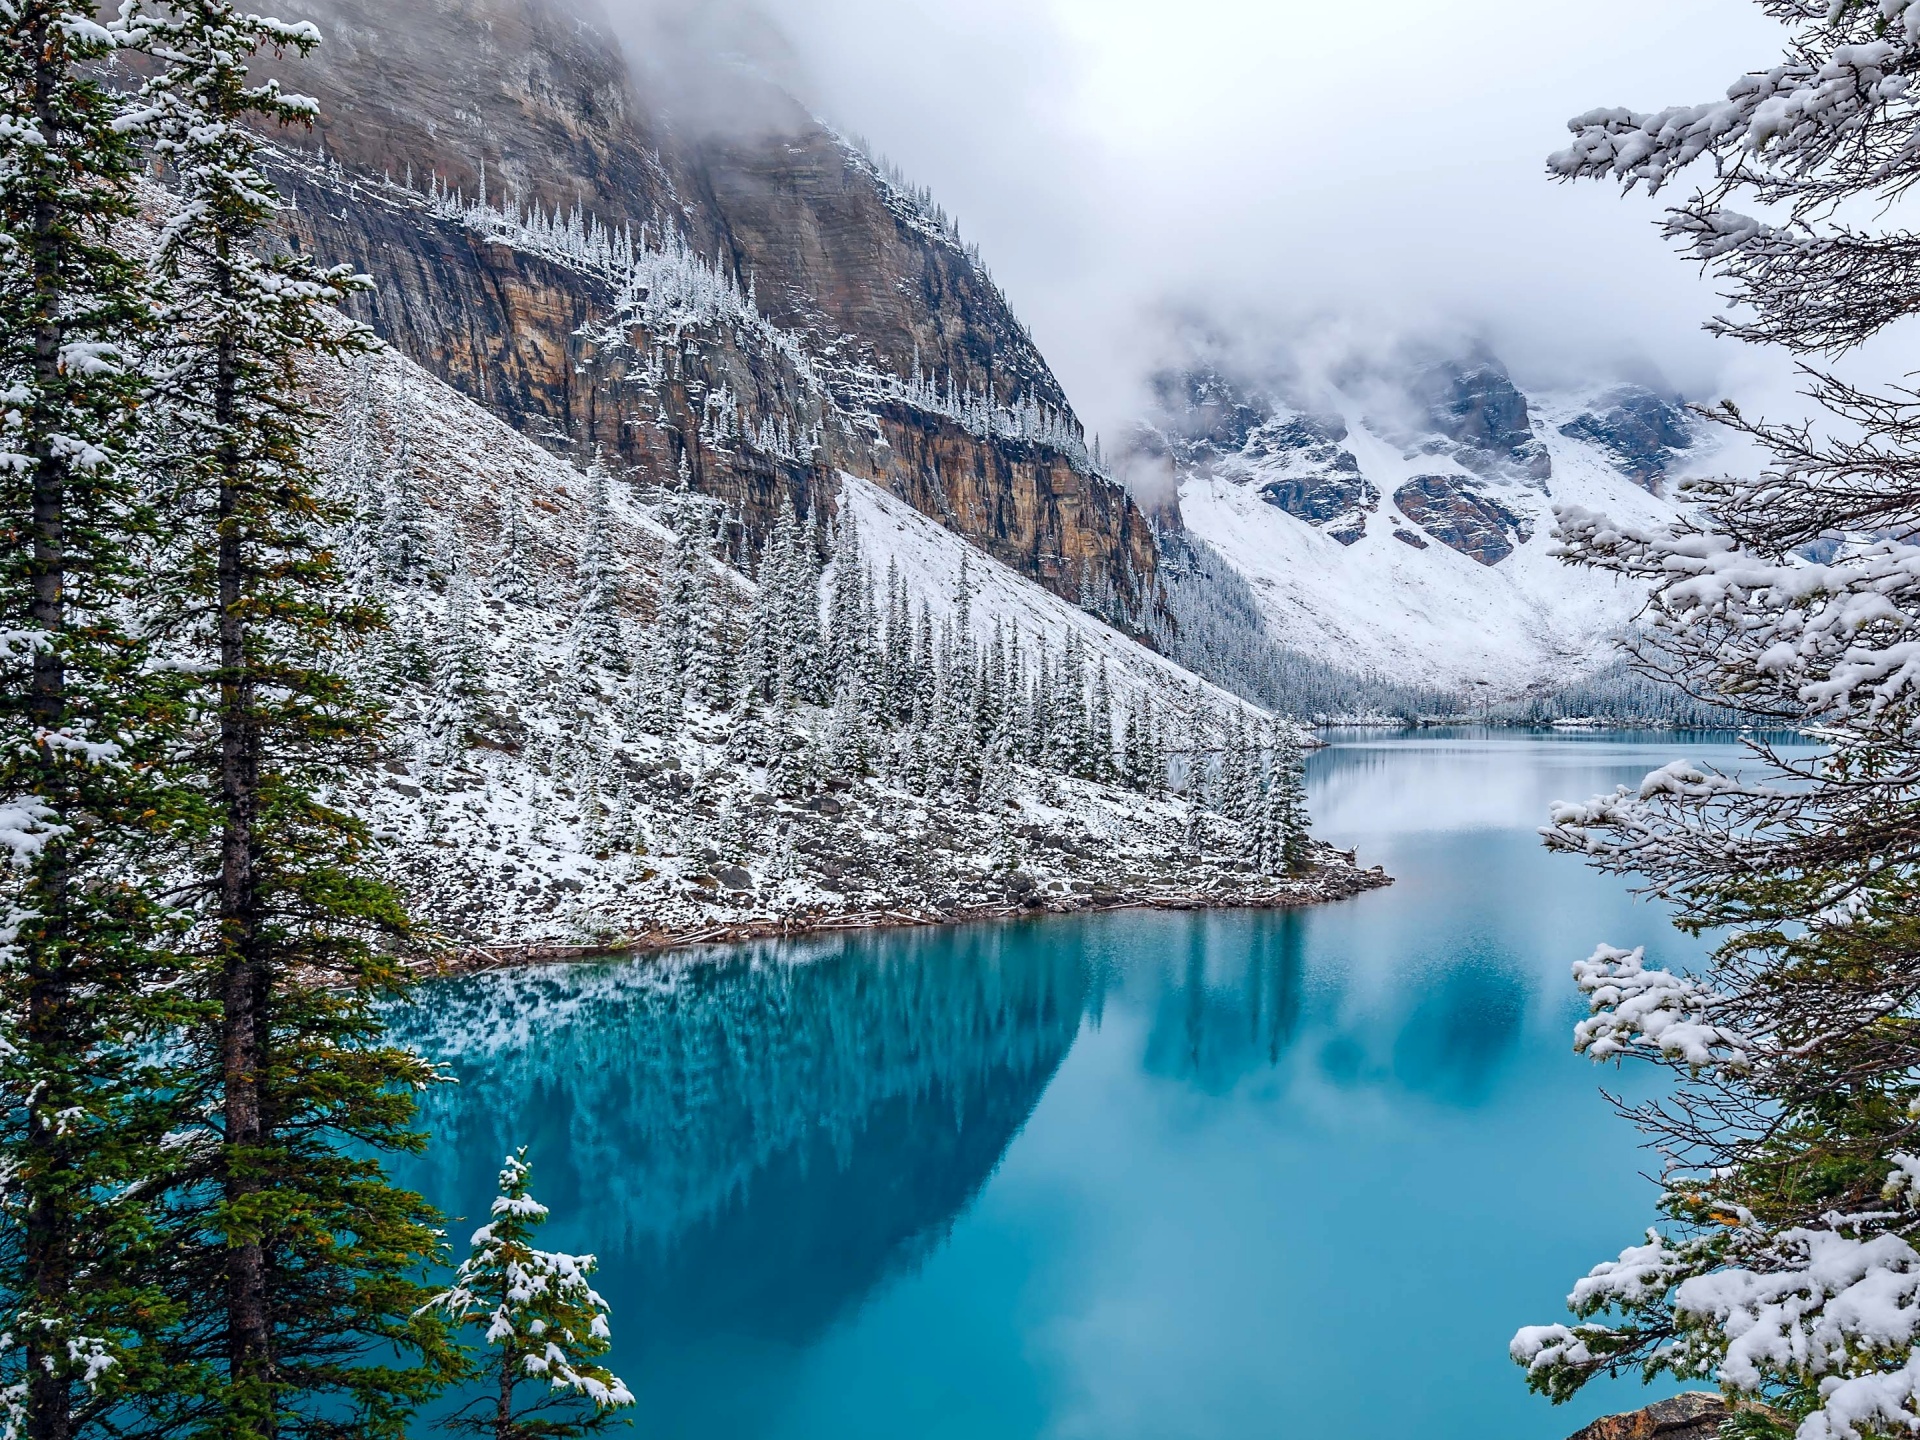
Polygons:
M1672 735L1352 735L1317 831L1392 889L1300 914L872 933L436 985L459 1075L401 1175L465 1236L528 1144L601 1258L649 1440L1559 1440L1515 1327L1651 1219L1571 1052L1596 941L1699 945L1549 856Z

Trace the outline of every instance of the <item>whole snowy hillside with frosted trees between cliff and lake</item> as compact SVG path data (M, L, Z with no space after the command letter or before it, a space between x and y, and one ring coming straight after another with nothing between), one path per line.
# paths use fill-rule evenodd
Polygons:
M1384 883L1286 849L1290 728L874 486L743 547L394 351L315 397L342 559L394 620L353 660L392 739L342 799L455 948Z

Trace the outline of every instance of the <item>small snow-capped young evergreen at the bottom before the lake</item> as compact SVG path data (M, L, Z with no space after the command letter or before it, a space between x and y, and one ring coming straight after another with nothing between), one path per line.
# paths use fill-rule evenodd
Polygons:
M486 1440L574 1440L634 1404L620 1377L599 1363L611 1340L607 1302L591 1284L597 1261L534 1246L549 1212L530 1194L530 1179L520 1146L501 1165L492 1217L474 1231L453 1286L430 1302L480 1331L492 1352L488 1390L451 1423ZM534 1396L522 1400L528 1388Z

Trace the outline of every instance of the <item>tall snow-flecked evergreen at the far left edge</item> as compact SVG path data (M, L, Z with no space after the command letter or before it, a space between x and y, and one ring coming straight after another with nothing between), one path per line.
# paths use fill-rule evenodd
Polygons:
M154 516L134 467L152 328L119 25L0 6L0 1430L98 1432L179 1379L156 1350L163 1146L194 1018L152 820L177 712L127 620ZM121 1413L119 1419L127 1415Z

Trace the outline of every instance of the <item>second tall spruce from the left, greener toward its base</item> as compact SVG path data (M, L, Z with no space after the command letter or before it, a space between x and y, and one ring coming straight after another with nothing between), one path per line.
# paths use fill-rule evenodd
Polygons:
M348 271L269 252L278 202L255 127L311 123L313 104L248 75L259 52L303 56L319 35L179 0L138 12L132 40L154 63L142 100L173 188L161 634L198 680L205 824L182 864L219 1012L182 1144L200 1167L182 1192L204 1204L175 1236L194 1302L177 1340L204 1379L167 1428L397 1434L451 1365L409 1279L440 1250L436 1217L380 1167L420 1144L411 1092L434 1071L384 1037L378 1000L403 989L388 943L407 920L365 826L324 799L380 735L342 676L380 616L342 593L328 532L346 516L309 470L298 390L311 357L365 340L334 309Z

